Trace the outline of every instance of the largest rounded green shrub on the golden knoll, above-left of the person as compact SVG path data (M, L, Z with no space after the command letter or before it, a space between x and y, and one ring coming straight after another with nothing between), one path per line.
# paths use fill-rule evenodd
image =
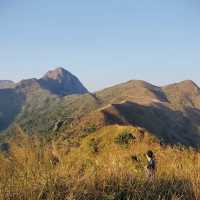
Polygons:
M128 145L131 141L135 140L136 137L128 131L122 132L115 138L115 143L119 145Z

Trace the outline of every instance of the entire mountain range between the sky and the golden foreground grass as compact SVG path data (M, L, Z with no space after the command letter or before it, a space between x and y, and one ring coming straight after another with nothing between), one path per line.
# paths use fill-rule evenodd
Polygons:
M29 134L56 130L78 137L90 127L121 124L147 129L166 143L200 145L200 89L190 80L164 87L132 80L89 93L57 68L41 79L1 81L0 88L1 131L17 123Z

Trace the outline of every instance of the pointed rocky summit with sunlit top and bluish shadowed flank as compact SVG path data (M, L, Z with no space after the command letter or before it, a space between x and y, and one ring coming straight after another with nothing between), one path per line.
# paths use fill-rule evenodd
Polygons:
M39 82L42 87L60 96L88 93L80 80L63 68L47 72Z

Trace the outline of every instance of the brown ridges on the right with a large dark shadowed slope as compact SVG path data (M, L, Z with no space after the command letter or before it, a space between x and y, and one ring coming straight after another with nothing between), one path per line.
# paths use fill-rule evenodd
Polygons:
M95 97L100 106L78 120L76 124L82 129L133 125L147 129L164 143L200 144L200 90L191 81L163 88L130 81L98 92Z

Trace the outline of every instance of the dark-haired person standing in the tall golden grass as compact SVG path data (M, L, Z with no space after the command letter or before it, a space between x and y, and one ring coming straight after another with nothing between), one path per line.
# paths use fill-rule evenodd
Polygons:
M148 161L146 166L147 177L150 180L153 180L155 178L155 172L156 172L156 161L154 153L152 151L147 151L146 158Z

